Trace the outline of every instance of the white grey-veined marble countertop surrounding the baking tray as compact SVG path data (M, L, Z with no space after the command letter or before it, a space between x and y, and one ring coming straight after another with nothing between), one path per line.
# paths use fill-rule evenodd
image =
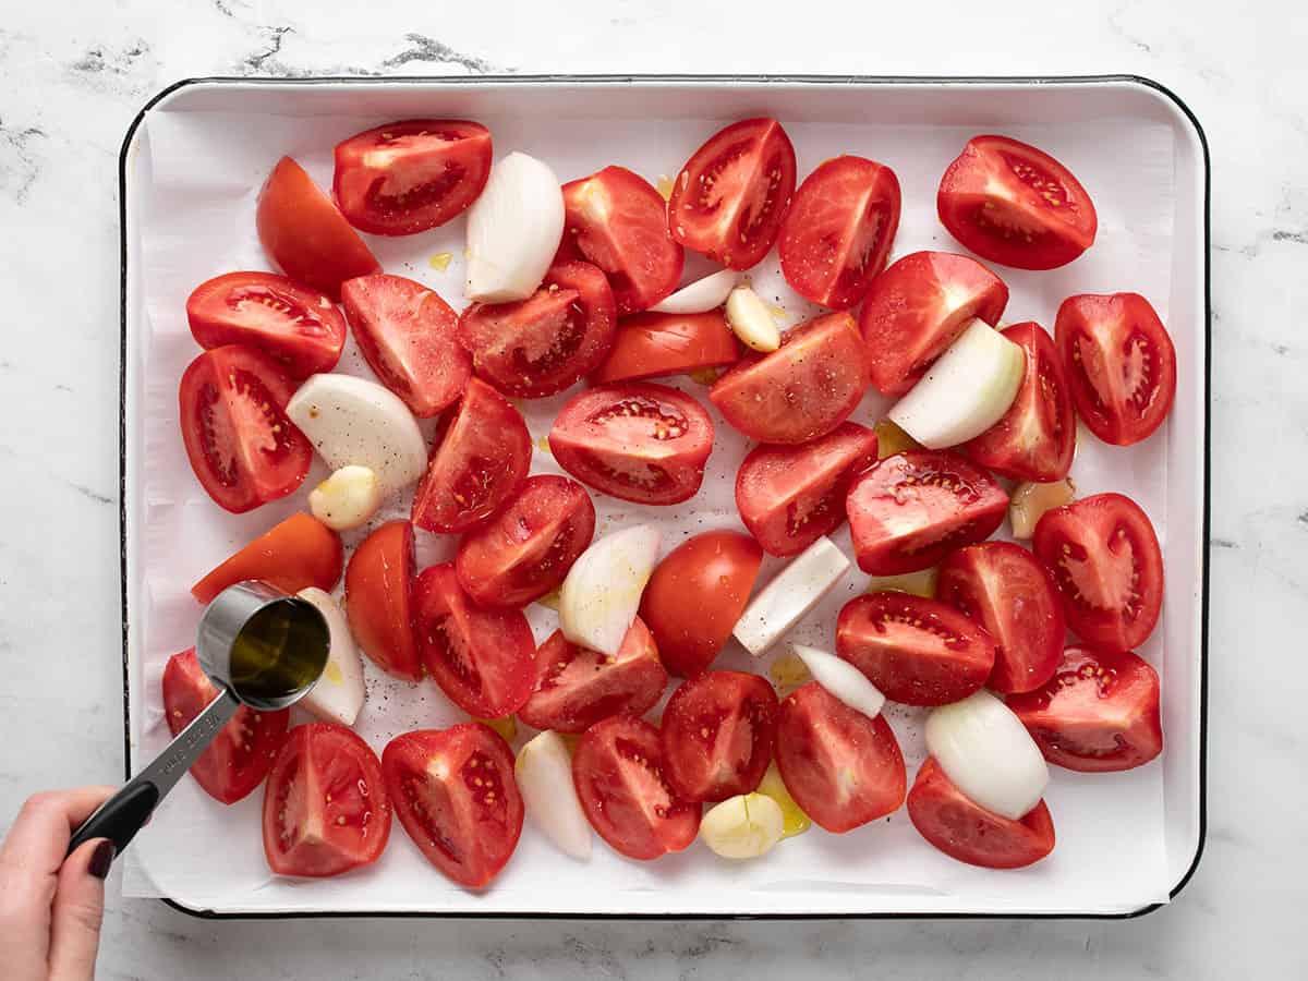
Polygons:
M1301 939L1308 672L1308 13L1165 3L22 4L0 21L0 828L43 786L122 773L122 136L204 75L1130 72L1213 152L1209 832L1179 900L1129 922L218 923L111 899L102 978L1291 978ZM858 13L845 12L846 8ZM802 9L802 17L795 10ZM60 264L51 255L68 256ZM76 603L69 599L76 598ZM114 887L111 883L111 893Z

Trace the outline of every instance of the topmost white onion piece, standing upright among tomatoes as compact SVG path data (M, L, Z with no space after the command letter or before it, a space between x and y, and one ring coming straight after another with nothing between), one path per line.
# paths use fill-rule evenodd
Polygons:
M510 153L490 167L468 208L468 300L526 300L545 277L564 234L564 192L547 164Z

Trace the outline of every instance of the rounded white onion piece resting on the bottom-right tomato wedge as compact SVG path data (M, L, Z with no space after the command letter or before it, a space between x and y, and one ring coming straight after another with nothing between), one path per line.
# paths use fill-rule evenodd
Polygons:
M1012 710L984 688L926 718L926 748L954 785L1018 820L1040 803L1049 766Z

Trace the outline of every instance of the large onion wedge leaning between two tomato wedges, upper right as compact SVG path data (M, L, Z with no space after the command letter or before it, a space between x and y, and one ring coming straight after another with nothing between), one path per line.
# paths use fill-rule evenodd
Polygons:
M957 446L1003 419L1025 364L1020 345L973 320L888 416L930 450Z

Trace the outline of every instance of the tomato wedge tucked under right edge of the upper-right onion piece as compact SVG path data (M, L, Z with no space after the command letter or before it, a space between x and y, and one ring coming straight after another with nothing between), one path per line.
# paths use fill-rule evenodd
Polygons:
M1076 455L1076 416L1054 343L1035 322L1002 334L1027 354L1018 396L998 422L957 451L1014 480L1062 480Z

